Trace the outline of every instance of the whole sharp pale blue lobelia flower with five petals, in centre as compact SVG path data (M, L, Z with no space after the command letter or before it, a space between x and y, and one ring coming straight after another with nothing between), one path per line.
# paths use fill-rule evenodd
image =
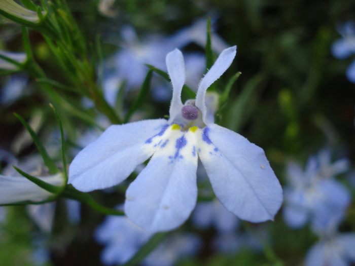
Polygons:
M282 188L264 150L214 124L215 94L207 88L231 65L236 47L225 49L202 79L196 100L181 102L184 58L166 56L173 87L169 120L144 120L109 127L69 167L68 183L83 192L114 186L151 157L126 191L125 213L149 232L180 226L196 205L196 170L201 160L220 202L241 219L273 219Z

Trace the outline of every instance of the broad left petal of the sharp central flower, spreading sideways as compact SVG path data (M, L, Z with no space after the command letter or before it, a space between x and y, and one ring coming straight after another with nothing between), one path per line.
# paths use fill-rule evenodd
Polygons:
M154 153L166 128L164 119L109 127L74 158L68 183L89 192L122 182Z

